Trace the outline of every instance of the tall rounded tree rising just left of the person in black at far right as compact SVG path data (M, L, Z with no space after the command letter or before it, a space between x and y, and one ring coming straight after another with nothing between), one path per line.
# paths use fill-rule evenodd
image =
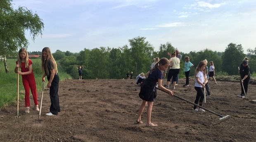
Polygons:
M237 75L238 66L242 63L245 57L242 45L230 43L222 54L222 69L229 75Z

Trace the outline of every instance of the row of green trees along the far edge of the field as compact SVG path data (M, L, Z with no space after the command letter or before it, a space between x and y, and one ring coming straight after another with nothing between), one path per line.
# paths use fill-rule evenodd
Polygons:
M59 63L59 69L69 73L73 78L78 78L76 65L83 65L85 66L82 71L83 78L120 79L126 78L127 71L133 71L134 76L141 72L146 73L150 69L153 58L169 58L167 53L176 50L171 43L167 42L166 44L161 44L159 51L156 52L145 37L135 37L130 39L129 43L130 47L128 45L119 48L99 47L92 50L84 49L79 53L57 50L53 53L53 56ZM240 66L246 56L249 57L249 66L252 73L256 71L256 49L249 49L248 52L249 54L244 54L242 45L234 43L230 43L225 52L216 52L210 49L199 52L190 51L189 53L180 51L182 60L180 62L179 76L184 76L183 67L186 56L189 56L190 62L194 64L190 76L194 75L197 64L204 59L207 59L208 62L213 61L216 75L238 75L237 67Z

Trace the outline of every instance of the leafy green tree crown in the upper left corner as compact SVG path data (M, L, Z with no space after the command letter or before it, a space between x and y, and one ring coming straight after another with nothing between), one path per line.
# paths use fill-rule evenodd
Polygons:
M29 45L26 31L32 40L42 35L43 20L26 7L13 9L12 0L0 0L0 56L14 54L20 47Z

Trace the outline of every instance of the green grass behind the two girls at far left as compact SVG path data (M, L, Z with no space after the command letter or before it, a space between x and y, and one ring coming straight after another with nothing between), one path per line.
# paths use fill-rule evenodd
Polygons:
M36 79L37 90L42 90L41 60L31 59L33 62L33 72ZM17 59L7 59L9 73L5 73L3 62L0 62L0 108L5 105L15 105L17 103L17 74L14 73ZM64 73L61 69L58 70L60 81L71 79L69 74ZM47 83L47 78L45 78ZM25 91L22 84L22 77L19 75L19 99L24 99ZM30 92L31 95L31 92ZM33 102L31 102L32 105Z

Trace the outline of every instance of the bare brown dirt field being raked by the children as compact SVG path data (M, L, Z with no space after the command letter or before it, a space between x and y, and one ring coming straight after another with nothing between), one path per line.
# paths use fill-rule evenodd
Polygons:
M61 112L49 112L49 90L44 90L41 119L38 111L24 113L24 99L19 101L20 123L15 122L17 106L6 106L0 111L1 142L256 142L256 85L249 85L247 98L240 94L239 82L210 81L211 96L204 106L208 111L192 113L192 104L157 90L152 109L152 122L157 127L146 127L135 122L141 99L135 80L65 80L59 85ZM166 80L164 80L164 83ZM194 102L196 91L193 80L190 87L179 85L175 95ZM38 88L41 88L38 86ZM41 92L38 92L40 103ZM31 102L32 97L31 97ZM33 105L33 103L32 103ZM146 109L146 108L145 108ZM142 114L146 122L146 110Z

